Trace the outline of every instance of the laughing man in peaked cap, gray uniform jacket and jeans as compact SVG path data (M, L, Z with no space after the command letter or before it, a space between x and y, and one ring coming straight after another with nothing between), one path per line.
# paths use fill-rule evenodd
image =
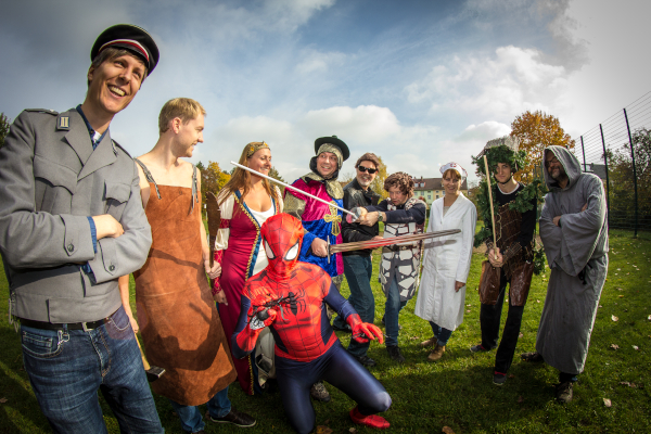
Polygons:
M158 61L132 25L91 50L86 100L58 114L26 110L0 150L0 253L23 360L56 433L106 432L98 388L122 432L162 433L117 279L152 242L130 155L111 140Z

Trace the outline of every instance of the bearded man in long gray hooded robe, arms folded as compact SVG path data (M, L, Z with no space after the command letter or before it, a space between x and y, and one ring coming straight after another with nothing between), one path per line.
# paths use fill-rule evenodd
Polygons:
M557 399L567 403L586 363L608 271L607 205L601 179L582 173L578 159L565 148L546 148L544 165L549 194L539 225L551 276L537 353L522 357L557 368Z

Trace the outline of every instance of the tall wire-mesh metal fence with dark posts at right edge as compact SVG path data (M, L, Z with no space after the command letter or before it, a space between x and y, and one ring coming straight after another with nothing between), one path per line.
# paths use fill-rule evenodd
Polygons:
M609 227L651 231L651 92L586 131L574 153L604 182Z

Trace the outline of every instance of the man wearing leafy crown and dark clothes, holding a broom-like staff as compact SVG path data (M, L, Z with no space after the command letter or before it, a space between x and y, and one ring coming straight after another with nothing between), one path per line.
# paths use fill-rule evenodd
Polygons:
M473 163L477 165L477 175L490 177L490 182L486 178L481 181L477 197L484 228L475 235L475 246L482 242L486 243L488 260L482 264L480 279L482 343L470 350L481 353L497 347L493 375L496 385L502 385L507 381L507 371L513 361L520 335L532 275L535 268L539 272L544 267L541 253L536 255L534 240L541 181L534 179L525 187L513 178L513 175L527 164L526 159L526 153L519 151L518 140L508 136L490 140L480 155L473 158ZM492 194L488 194L488 188ZM509 314L498 347L507 284Z

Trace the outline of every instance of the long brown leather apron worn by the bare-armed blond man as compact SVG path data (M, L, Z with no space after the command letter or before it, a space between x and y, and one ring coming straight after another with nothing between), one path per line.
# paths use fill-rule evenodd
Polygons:
M228 340L204 273L201 201L193 206L195 189L149 180L145 214L153 242L146 263L133 275L146 358L166 370L151 385L178 404L197 406L235 380Z

